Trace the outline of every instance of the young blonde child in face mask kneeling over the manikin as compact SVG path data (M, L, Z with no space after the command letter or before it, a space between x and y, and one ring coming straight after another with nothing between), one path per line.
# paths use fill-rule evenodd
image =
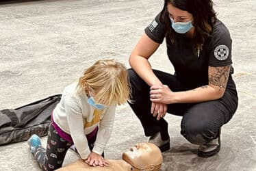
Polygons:
M88 165L108 166L101 155L110 139L116 105L129 99L129 90L127 69L115 60L99 60L79 81L66 86L51 115L47 148L38 135L28 140L40 168L61 168L73 144Z

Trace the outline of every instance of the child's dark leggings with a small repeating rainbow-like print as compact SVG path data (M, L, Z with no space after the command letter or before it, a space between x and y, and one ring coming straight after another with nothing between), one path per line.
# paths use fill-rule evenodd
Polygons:
M88 145L90 150L94 146L97 133L88 139ZM39 146L34 151L33 155L38 161L38 165L42 170L56 170L62 167L66 152L73 143L64 140L60 135L57 134L52 124L50 124L48 137L47 137L47 148Z

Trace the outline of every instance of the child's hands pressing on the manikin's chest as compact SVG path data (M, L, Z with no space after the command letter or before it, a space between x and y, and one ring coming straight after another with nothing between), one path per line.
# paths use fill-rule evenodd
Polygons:
M101 155L91 152L90 155L85 159L85 162L90 166L109 166L109 162L104 159Z

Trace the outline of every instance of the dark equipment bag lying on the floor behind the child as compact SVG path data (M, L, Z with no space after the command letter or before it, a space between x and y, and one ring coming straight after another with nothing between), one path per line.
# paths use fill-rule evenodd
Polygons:
M0 110L0 145L23 142L36 133L39 137L48 133L51 113L61 94L18 107Z

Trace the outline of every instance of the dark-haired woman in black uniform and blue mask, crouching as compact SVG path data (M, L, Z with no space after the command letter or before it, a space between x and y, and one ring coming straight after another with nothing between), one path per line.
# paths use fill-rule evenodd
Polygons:
M174 75L153 70L149 57L166 38ZM149 142L170 148L166 112L182 116L181 135L199 145L200 157L220 150L220 128L238 107L231 77L231 38L212 0L165 0L129 58L131 108Z

